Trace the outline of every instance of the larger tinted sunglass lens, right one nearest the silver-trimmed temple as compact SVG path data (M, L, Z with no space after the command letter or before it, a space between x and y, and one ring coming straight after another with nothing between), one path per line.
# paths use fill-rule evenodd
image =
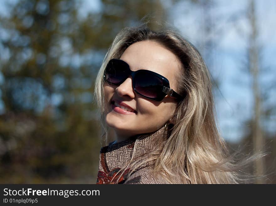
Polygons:
M162 87L162 80L154 75L146 72L136 74L134 88L140 94L149 98L158 98Z

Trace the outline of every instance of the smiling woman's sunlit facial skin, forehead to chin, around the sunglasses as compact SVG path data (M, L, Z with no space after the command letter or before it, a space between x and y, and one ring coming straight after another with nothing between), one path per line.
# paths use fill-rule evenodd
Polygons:
M132 71L145 69L166 77L170 88L177 91L175 79L181 68L180 61L159 43L152 40L136 42L125 50L120 59L128 63ZM131 76L119 86L105 82L104 98L107 108L105 121L114 129L118 141L156 131L173 117L177 105L176 99L168 95L161 102L139 96L132 88ZM124 113L119 108L114 108L114 100L125 103L135 112Z

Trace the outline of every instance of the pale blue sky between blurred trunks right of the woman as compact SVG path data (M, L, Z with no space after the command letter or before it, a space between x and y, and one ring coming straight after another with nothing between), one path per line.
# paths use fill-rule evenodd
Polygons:
M252 79L248 72L244 71L246 50L248 47L249 24L246 12L249 1L214 1L210 8L210 16L214 21L215 29L207 37L216 42L213 55L212 68L209 67L212 76L220 80L219 89L221 94L216 96L218 124L222 136L228 141L238 141L246 132L247 127L243 122L253 115L253 96L251 90ZM173 13L171 22L182 31L183 35L194 43L200 51L204 51L201 41L204 37L202 26L204 13L198 6L190 3L179 3L171 8ZM265 86L275 82L276 53L276 2L256 1L257 25L259 28L259 45L262 46L260 53L260 66L269 67L271 71L260 72L262 92ZM232 20L234 16L239 18ZM208 51L207 51L208 52ZM263 105L275 106L275 87L269 91L269 99ZM275 132L276 116L263 126L270 132Z

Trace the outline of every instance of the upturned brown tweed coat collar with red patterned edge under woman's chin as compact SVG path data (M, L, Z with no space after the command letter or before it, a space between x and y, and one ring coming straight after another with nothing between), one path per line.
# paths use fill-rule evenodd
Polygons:
M135 140L137 140L136 145ZM119 170L126 166L131 158L142 160L147 153L155 150L158 144L164 145L166 140L167 130L165 126L162 126L154 132L135 135L128 140L102 147L100 150L97 184L114 184L120 176L118 183L124 183L130 169L127 168L125 172L121 171L124 172L123 175L121 175ZM134 145L135 152L133 154ZM114 179L111 182L113 177Z

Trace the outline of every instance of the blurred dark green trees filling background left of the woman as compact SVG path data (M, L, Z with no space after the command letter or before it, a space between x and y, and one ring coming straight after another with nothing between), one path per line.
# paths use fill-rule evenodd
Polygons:
M148 15L166 18L158 1L101 1L82 17L80 1L19 0L0 18L1 183L94 183L100 127L93 85L115 34Z

